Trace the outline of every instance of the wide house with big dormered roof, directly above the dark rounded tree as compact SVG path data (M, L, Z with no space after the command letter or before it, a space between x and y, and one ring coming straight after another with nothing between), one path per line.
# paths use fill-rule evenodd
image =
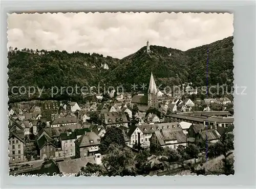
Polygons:
M125 113L118 114L117 112L104 113L104 125L106 127L111 126L124 126L128 127L128 120Z

